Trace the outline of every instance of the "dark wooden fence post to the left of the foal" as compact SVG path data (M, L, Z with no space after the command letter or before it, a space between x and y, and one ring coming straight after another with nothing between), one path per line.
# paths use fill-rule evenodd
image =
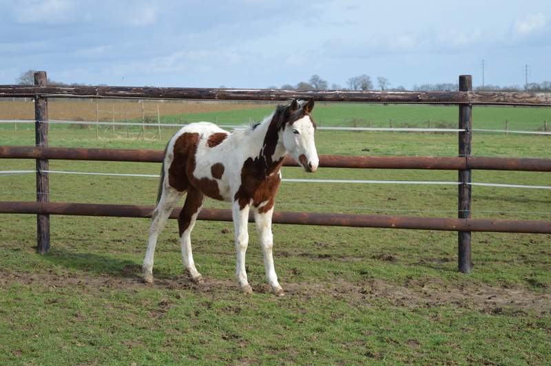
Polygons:
M34 85L46 85L46 72L34 73ZM37 147L48 146L48 99L41 96L34 98L34 136ZM37 202L50 202L50 181L48 171L50 163L47 159L37 159ZM50 215L37 215L37 252L42 255L50 252Z

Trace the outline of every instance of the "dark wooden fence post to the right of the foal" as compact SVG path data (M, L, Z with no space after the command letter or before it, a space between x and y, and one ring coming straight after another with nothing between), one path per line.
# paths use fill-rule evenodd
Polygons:
M472 91L472 76L459 76L459 92ZM459 157L467 157L471 154L472 148L472 105L459 105ZM459 204L458 218L470 219L471 208L471 171L470 169L459 171ZM470 273L470 231L459 231L457 233L457 269L459 272Z

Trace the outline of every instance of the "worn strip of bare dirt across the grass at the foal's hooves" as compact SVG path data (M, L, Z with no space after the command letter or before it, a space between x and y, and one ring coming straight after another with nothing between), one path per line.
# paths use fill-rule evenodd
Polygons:
M135 268L134 268L135 267ZM98 288L112 288L114 290L156 288L181 289L185 292L200 292L216 294L238 292L236 281L220 281L204 277L203 283L194 283L188 277L171 277L155 279L154 283L143 283L141 277L130 275L140 270L138 266L127 266L123 272L128 275L113 277L72 277L70 275L27 275L24 276L0 270L0 283L22 284L41 283L42 286L56 288L79 286L81 291L96 293ZM459 285L455 288L438 288L437 283L424 281L409 281L404 286L393 286L380 279L366 280L351 283L346 279L334 278L331 283L282 283L287 297L309 300L315 297L335 297L342 301L356 305L364 303L366 299L387 299L389 303L405 309L437 308L452 306L475 310L483 313L501 314L504 308L529 310L537 314L550 314L551 294L549 292L533 292L528 289L507 289L492 286L466 288ZM253 284L255 292L271 295L267 283ZM246 295L242 295L246 296Z

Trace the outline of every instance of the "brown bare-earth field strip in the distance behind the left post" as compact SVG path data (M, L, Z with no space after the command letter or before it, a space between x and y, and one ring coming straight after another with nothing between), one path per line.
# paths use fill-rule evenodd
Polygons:
M157 106L160 116L175 114L193 114L217 111L233 111L236 109L264 108L266 104L259 103L160 103L148 101L143 103L145 116L157 116ZM98 120L112 120L113 110L115 119L123 120L128 118L141 118L142 103L133 101L48 101L48 119L50 120L96 120L96 107L98 109ZM8 102L0 101L0 120L34 120L34 103L32 101Z

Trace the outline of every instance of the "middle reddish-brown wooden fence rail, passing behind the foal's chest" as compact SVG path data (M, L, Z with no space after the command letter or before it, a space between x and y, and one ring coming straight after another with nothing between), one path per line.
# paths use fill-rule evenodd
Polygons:
M161 150L85 149L72 147L0 147L0 158L163 162ZM285 166L298 166L287 156ZM551 171L551 159L320 155L320 167L358 169L484 169L502 171Z

